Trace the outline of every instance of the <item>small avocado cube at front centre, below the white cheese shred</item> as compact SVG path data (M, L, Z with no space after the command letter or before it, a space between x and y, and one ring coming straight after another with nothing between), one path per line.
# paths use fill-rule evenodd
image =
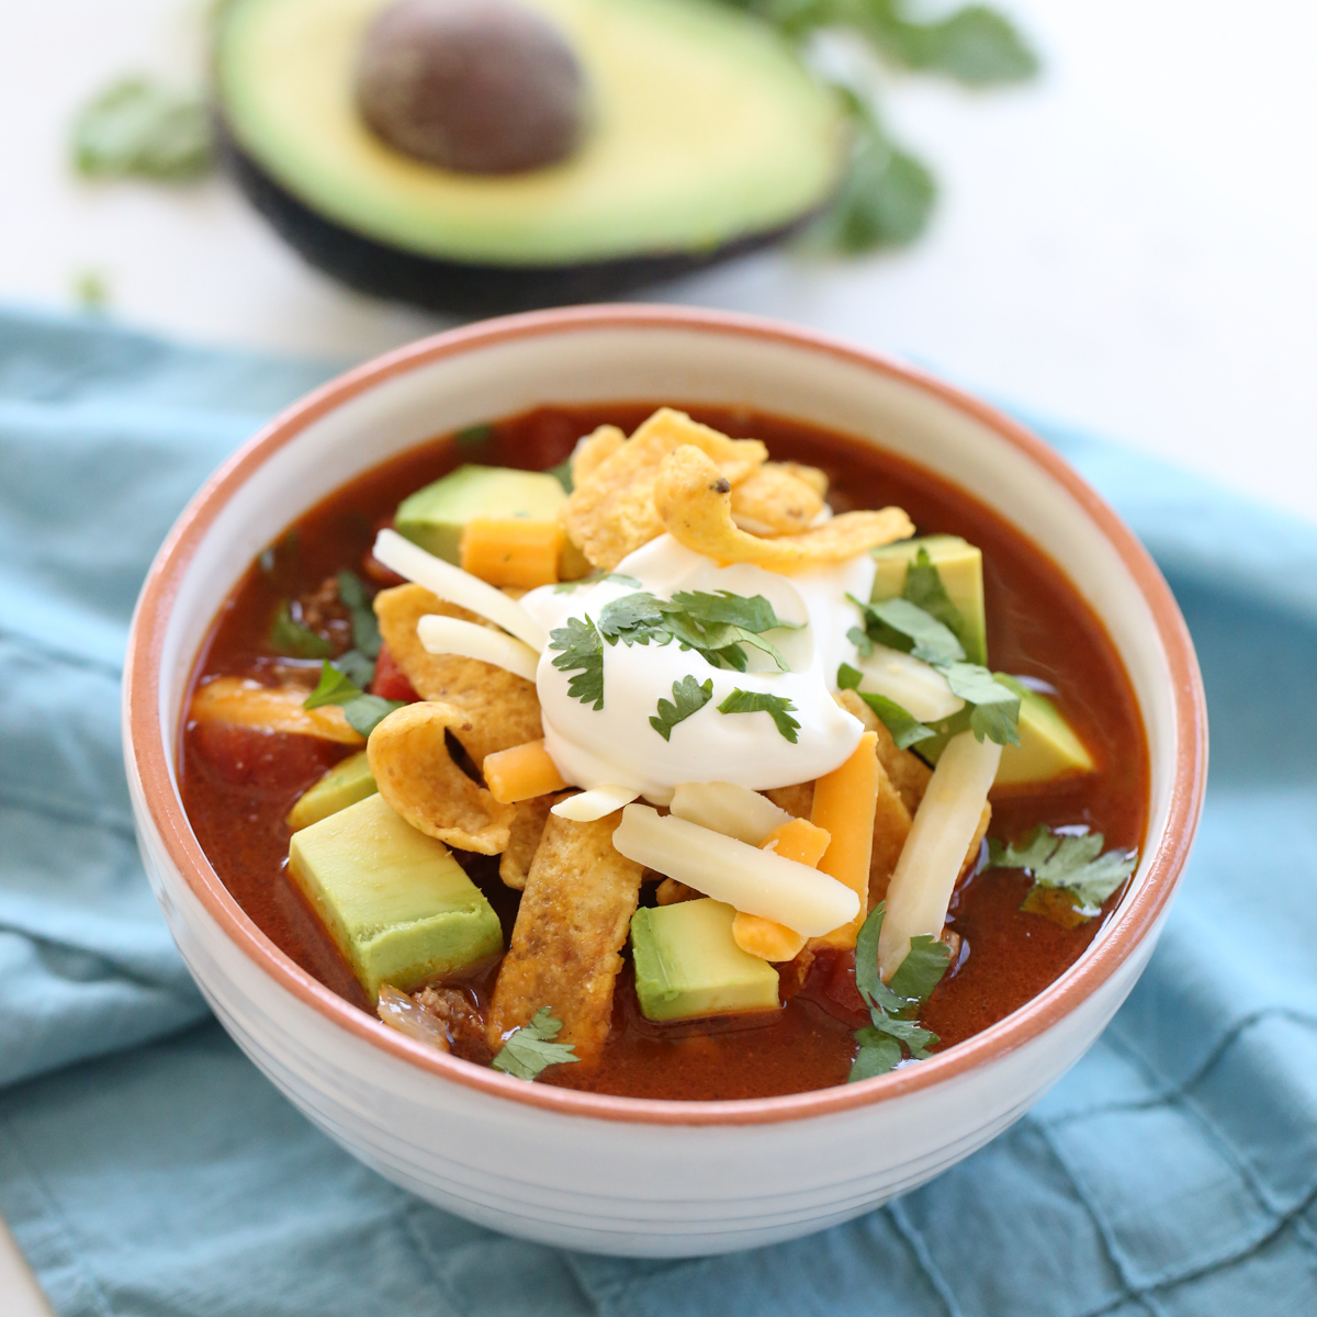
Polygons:
M641 907L631 918L636 996L645 1019L695 1019L777 1006L777 971L732 938L722 901Z

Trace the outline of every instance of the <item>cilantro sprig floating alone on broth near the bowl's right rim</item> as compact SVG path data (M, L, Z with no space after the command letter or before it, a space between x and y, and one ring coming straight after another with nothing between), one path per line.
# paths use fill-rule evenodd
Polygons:
M1034 885L1021 910L1073 928L1102 913L1102 903L1138 868L1138 851L1104 851L1106 839L1085 826L1039 823L1021 843L988 842L988 868L1023 869Z

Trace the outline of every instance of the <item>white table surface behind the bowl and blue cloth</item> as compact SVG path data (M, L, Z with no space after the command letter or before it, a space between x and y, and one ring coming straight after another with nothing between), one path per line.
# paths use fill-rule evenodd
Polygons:
M0 0L0 300L361 358L445 321L307 269L228 184L87 186L72 109L130 70L200 67L204 0ZM943 186L911 252L768 254L656 291L781 316L1317 519L1317 8L1306 0L1008 0L1046 62L967 95L894 80ZM45 1312L0 1227L0 1313Z

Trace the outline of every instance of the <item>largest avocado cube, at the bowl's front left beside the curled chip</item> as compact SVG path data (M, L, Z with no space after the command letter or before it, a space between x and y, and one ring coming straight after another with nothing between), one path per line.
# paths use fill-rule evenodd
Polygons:
M288 872L361 986L402 992L497 955L498 915L443 842L367 795L294 832Z

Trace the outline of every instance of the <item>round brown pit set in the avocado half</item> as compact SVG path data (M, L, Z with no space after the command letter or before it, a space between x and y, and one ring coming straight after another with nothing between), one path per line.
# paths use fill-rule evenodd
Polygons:
M357 108L390 146L441 169L518 174L573 153L581 63L540 14L507 0L398 0L366 29Z

